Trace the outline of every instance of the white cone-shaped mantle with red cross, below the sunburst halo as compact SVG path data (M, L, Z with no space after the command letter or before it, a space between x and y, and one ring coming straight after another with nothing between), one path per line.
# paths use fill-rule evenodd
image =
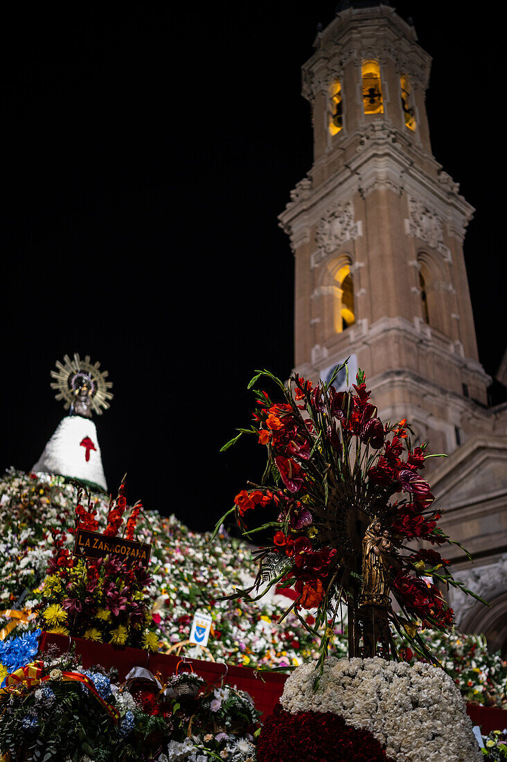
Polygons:
M69 476L107 491L94 422L80 415L63 418L32 471Z

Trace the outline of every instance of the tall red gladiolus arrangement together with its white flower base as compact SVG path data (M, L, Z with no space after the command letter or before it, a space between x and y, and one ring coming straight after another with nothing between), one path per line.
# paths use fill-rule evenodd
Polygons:
M316 664L298 667L285 684L281 705L290 715L332 712L370 733L370 740L379 741L397 762L480 760L460 693L421 636L424 629L445 632L453 625L441 588L452 585L477 597L454 580L448 560L435 549L452 540L438 527L434 496L419 473L432 457L428 443L412 445L406 419L380 421L362 370L350 389L337 392L332 384L342 367L336 367L329 383L315 386L296 374L285 388L265 370L249 384L252 388L268 378L282 400L254 389L251 427L239 429L223 447L250 434L268 456L260 482L248 482L217 524L218 530L233 513L243 536L262 532L268 537L257 552L254 584L229 598L248 599L254 593L257 600L274 585L291 588L292 601L280 620L294 610L300 623L320 636ZM263 517L256 525L255 514ZM312 611L313 625L302 610ZM329 659L335 625L344 619L348 658ZM425 663L400 664L408 658L408 646L397 647L393 632ZM435 728L437 716L441 725ZM446 722L459 728L457 743ZM268 754L266 760L291 753L291 723L290 717L279 716L277 748L283 754ZM394 728L402 726L400 739ZM365 759L358 744L344 756L342 740L345 735L323 757L310 753L311 759Z

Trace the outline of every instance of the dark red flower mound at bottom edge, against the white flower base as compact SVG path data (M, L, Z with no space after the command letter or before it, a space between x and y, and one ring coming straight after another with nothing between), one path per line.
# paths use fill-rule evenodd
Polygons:
M265 719L258 739L262 762L393 762L371 732L345 725L332 712L284 712Z

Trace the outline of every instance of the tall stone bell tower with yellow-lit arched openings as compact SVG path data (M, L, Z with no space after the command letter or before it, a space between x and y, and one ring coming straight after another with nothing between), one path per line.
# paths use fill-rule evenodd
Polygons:
M280 215L295 258L295 370L351 355L384 421L451 453L485 431L463 241L473 207L432 155L431 58L389 5L342 0L303 66L314 161ZM430 462L431 463L431 462Z

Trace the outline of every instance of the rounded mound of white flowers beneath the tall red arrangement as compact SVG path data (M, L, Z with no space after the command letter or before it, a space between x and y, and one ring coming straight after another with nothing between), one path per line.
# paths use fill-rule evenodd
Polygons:
M315 662L288 678L287 712L333 712L369 730L396 762L480 762L460 691L441 668L380 658L329 658L316 693Z

